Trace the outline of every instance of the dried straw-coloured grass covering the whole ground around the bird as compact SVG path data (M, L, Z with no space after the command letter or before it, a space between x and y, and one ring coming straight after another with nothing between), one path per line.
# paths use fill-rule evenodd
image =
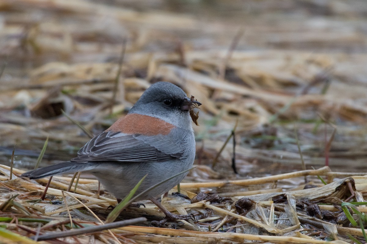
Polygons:
M119 219L143 216L143 226L48 242L350 243L347 234L363 240L340 204L363 202L367 192L366 2L249 1L249 11L240 1L204 2L0 3L0 242L34 243L23 236L105 221L116 200L98 194L94 178L82 175L64 199L71 177L54 176L40 200L48 179L18 176L34 168L46 138L43 165L73 157L88 141L86 131L109 127L157 80L203 104L194 128L198 167L181 183L191 200L162 199L196 221L149 227L163 214L145 202ZM235 151L232 140L224 143L232 131ZM302 161L307 170L297 171ZM332 170L322 167L326 161Z

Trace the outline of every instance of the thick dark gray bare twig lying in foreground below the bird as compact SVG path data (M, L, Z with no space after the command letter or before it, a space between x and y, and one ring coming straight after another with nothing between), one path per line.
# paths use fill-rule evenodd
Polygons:
M117 221L117 222L113 222L113 223L109 223L105 225L97 225L97 226L90 226L90 227L85 227L85 228L80 228L80 229L65 230L62 232L44 234L42 236L39 236L38 240L44 241L44 240L49 240L49 239L54 239L54 238L75 236L75 235L86 234L86 233L91 233L91 232L98 232L102 230L115 229L115 228L120 228L120 227L127 226L127 225L138 224L138 223L145 222L145 221L147 221L146 218L140 217L140 218L135 218L135 219ZM33 237L31 239L33 239Z

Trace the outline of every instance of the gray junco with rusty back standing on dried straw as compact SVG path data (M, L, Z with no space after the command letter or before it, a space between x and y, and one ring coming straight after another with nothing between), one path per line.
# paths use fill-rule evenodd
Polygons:
M189 110L200 102L168 82L150 86L128 114L95 136L70 161L31 170L30 179L88 171L112 192L124 198L142 179L136 194L191 168L195 138ZM152 199L177 185L187 173L159 185L140 199Z

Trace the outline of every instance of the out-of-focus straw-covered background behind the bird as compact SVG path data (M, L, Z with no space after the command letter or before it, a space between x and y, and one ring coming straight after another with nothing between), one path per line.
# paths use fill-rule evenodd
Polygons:
M301 170L299 149L367 171L365 0L1 0L0 74L1 164L47 137L43 165L75 157L62 110L97 135L163 80L203 103L188 179Z

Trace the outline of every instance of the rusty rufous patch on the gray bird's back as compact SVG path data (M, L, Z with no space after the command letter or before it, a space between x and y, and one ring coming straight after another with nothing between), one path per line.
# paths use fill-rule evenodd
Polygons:
M125 134L142 134L147 136L168 135L174 125L164 120L148 115L131 113L117 120L106 131L122 132Z

